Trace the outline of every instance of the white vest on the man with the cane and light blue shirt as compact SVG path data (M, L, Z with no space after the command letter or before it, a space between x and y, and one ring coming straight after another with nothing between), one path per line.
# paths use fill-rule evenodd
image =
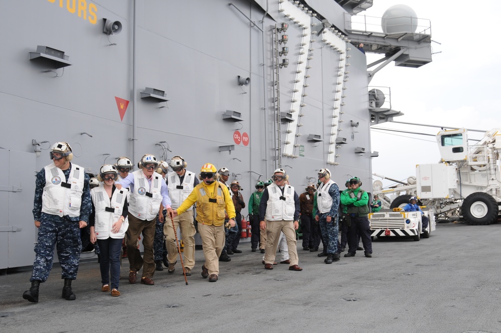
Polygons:
M134 192L130 194L129 213L139 220L151 221L156 218L162 203L163 178L162 175L153 172L151 186L142 170L132 173L134 176Z

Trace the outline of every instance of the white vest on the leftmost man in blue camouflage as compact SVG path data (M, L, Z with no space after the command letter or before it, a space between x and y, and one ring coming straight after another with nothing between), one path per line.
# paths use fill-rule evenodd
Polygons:
M42 194L42 212L63 217L80 216L82 194L84 192L84 169L71 164L71 171L66 177L54 163L45 169L45 187Z

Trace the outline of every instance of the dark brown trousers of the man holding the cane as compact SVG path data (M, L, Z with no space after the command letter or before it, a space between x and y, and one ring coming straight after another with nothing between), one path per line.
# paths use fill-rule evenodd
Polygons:
M143 267L142 277L153 277L155 273L155 260L153 257L153 240L155 238L156 218L147 221L139 220L129 213L129 229L125 233L127 239L127 259L129 259L130 270L138 271ZM144 255L137 248L137 239L143 234Z

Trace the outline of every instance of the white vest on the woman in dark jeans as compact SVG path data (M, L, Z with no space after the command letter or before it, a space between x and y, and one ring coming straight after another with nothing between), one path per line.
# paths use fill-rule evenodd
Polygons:
M129 219L127 217L125 217L125 221L122 222L122 227L119 232L111 232L111 226L122 216L125 198L127 198L128 192L129 190L127 189L115 189L110 200L108 199L108 193L106 193L103 185L91 190L92 202L94 203L96 214L94 231L98 239L107 239L108 237L117 239L124 238L125 232L129 227Z

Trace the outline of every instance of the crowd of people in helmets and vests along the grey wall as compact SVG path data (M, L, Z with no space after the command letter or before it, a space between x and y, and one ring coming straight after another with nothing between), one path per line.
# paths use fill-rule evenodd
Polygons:
M98 176L91 180L82 167L71 162L73 153L67 142L52 145L50 158L52 163L37 174L36 180L33 214L39 235L31 287L23 293L23 298L30 302L39 300L39 286L52 269L56 244L65 280L62 297L76 299L71 283L76 279L80 261L80 228L87 224L91 242L99 244L101 250L101 290L111 292L112 296L120 295L122 242L126 246L131 284L136 283L141 268L140 282L145 285L154 284L153 274L155 270L163 270L162 263L169 273L174 273L178 255L184 276L191 275L195 265L196 232L200 234L205 257L201 275L208 277L209 282L218 279L219 261L229 261L228 254L242 252L237 246L245 202L238 181L227 184L229 170L226 168L217 170L213 164L206 163L196 177L186 170L187 163L181 156L166 162L145 154L138 162L137 171L132 172L131 159L123 156L113 165L102 165ZM302 270L298 265L296 237L302 214L303 249L318 251L321 238L324 250L319 257L326 256L328 264L339 260L344 250L338 245L341 215L343 221L351 222L346 223L349 251L345 257L355 255L357 235L362 238L365 256L371 257L368 196L359 189L358 178L349 180L348 189L340 195L331 172L321 169L318 189L310 184L301 200L288 178L284 169L275 170L270 180L256 183L256 192L248 201L251 250L256 252L259 245L260 252L264 253L265 269L273 269L277 264L275 257L280 243L281 263L289 264L289 270ZM196 216L192 209L195 204ZM176 233L178 228L184 261ZM141 234L143 256L138 246Z

